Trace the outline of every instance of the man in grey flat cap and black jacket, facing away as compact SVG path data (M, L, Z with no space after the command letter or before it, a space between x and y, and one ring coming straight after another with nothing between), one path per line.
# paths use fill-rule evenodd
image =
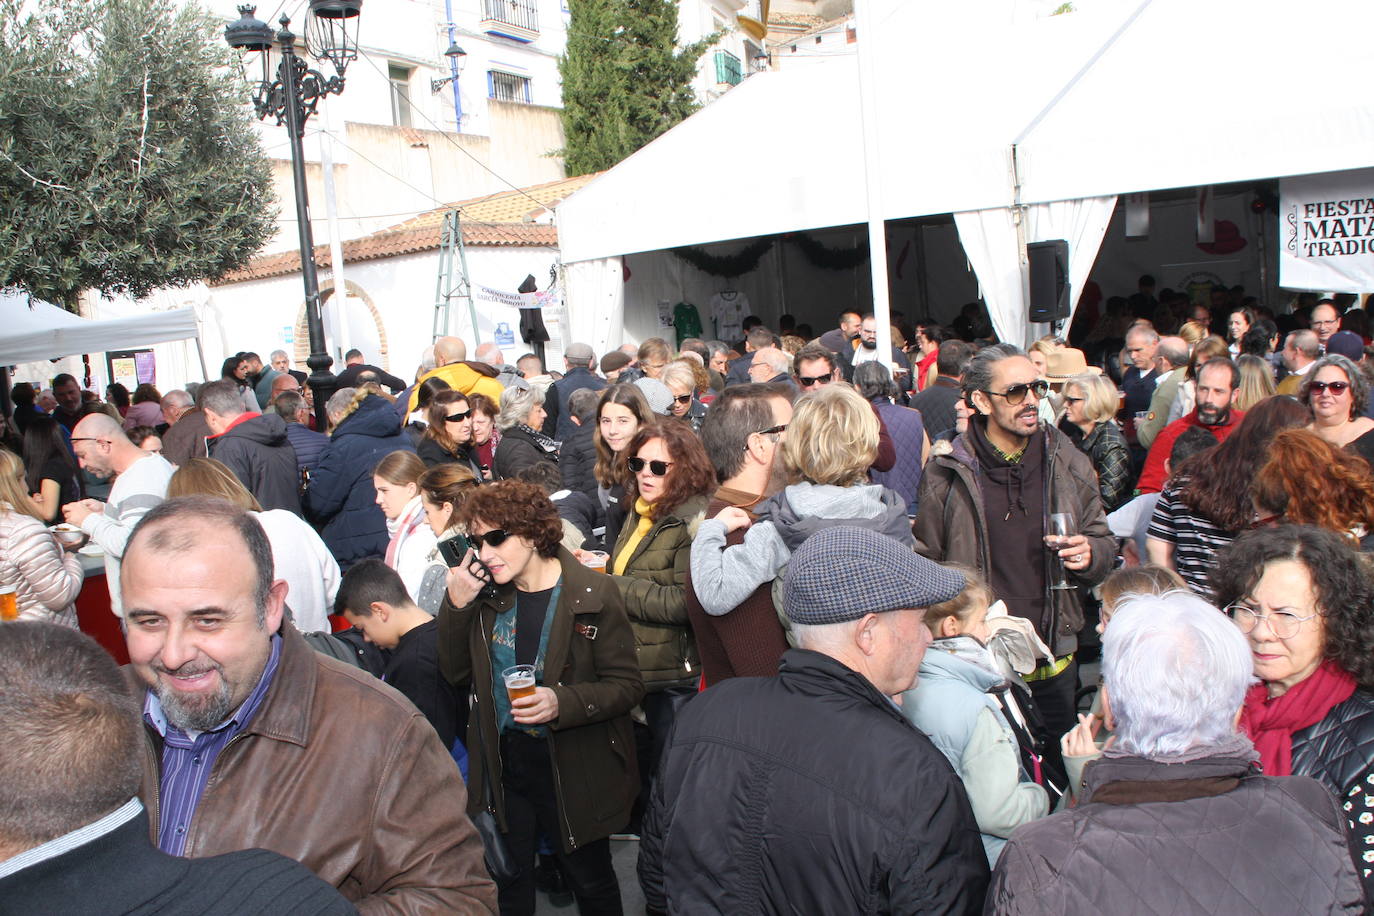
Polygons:
M741 512L743 509L725 509ZM988 860L949 762L889 699L963 574L851 526L791 556L798 648L677 713L642 829L649 912L978 913Z

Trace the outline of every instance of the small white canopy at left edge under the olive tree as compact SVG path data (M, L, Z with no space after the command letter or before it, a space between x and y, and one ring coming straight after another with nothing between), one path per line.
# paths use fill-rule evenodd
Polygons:
M196 338L195 309L91 321L26 295L0 294L0 365L56 360L78 353L132 350Z

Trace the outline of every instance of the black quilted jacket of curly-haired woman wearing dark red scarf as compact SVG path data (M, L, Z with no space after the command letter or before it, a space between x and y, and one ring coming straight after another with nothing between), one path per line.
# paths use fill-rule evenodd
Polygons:
M1356 868L1374 900L1374 694L1356 689L1320 722L1293 732L1293 772L1322 783L1341 803Z

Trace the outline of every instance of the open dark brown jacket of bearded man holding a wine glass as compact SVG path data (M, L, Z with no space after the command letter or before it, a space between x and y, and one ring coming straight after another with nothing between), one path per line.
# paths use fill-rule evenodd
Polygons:
M1054 427L1041 426L1044 435L1046 512L1068 512L1074 530L1092 545L1092 562L1079 571L1069 571L1070 580L1083 585L1096 585L1112 571L1117 542L1107 527L1102 511L1102 494L1088 456L1069 442ZM916 552L937 563L963 563L987 574L992 566L988 553L988 522L982 512L982 490L978 479L984 471L973 455L967 434L955 438L951 446L930 449L930 460L921 477L921 511L912 531ZM1039 537L1039 531L1035 533ZM1077 632L1083 629L1081 589L1051 589L1054 558L1044 551L1047 621L1032 621L1040 639L1057 656L1074 651Z

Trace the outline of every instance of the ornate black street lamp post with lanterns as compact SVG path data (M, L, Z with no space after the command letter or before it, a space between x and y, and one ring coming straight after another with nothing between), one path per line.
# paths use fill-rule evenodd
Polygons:
M334 360L324 349L324 321L320 316L320 282L315 269L315 233L311 231L311 202L305 188L305 121L315 114L320 99L344 92L344 71L357 58L357 18L363 0L311 0L306 18L306 51L316 60L328 60L335 74L326 77L311 70L295 54L291 21L282 16L282 30L253 18L256 7L239 7L239 21L224 30L224 40L238 51L257 52L262 58L262 78L253 91L253 108L260 119L275 117L286 126L291 143L291 180L295 185L295 225L301 236L301 280L305 284L305 324L311 338L311 367L306 385L315 394L316 428L328 428L324 404L334 391ZM273 41L280 48L280 59L273 70ZM342 304L344 290L335 290L335 302ZM342 308L342 306L341 306Z

